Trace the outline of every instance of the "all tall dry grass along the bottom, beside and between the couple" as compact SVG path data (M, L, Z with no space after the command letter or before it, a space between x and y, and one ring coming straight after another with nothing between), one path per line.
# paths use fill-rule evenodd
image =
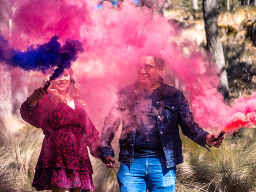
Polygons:
M246 129L226 138L212 152L182 136L184 163L177 167L176 192L253 192L256 191L256 130ZM43 134L26 127L16 134L0 134L0 191L34 192L31 187ZM118 144L118 138L113 141ZM116 150L116 149L115 149ZM116 155L118 151L116 151ZM116 168L106 168L90 156L93 180L98 192L118 192Z

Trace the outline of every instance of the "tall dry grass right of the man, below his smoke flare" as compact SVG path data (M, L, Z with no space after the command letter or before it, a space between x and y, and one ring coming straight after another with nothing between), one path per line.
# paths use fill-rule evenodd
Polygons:
M255 129L247 129L239 137L225 139L220 148L211 148L211 152L183 137L185 164L179 167L178 179L206 183L203 189L207 191L255 191L255 136Z

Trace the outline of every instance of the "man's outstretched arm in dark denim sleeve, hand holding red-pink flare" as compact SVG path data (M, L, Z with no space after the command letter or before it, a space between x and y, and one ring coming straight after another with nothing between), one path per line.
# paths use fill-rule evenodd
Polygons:
M182 92L180 92L178 123L182 129L182 133L200 146L206 147L205 145L208 144L209 146L219 147L224 139L221 138L221 140L218 142L214 142L218 134L210 134L198 126L198 124L194 121L192 112L189 109L188 101Z

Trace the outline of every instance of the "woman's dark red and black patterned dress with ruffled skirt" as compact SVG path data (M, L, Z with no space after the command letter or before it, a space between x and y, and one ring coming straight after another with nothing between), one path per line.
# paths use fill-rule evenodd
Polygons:
M75 110L67 104L56 105L46 95L34 108L26 100L20 114L45 135L32 186L39 191L51 186L94 191L87 146L97 158L100 138L84 107L76 101Z

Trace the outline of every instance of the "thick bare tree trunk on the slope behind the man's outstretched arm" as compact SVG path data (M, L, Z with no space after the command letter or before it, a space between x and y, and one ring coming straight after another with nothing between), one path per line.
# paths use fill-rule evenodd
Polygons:
M220 92L224 98L229 99L224 52L218 31L218 8L218 0L203 0L207 49L211 53L214 63L220 69Z

